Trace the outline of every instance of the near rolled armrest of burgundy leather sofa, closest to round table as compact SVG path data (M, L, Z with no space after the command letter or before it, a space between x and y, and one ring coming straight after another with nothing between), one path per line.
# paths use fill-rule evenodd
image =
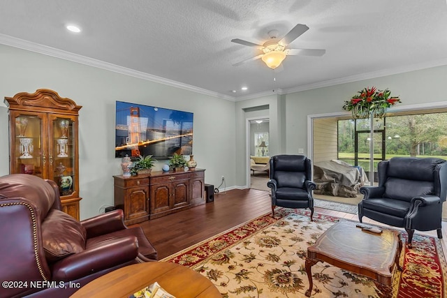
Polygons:
M135 236L110 239L107 244L86 249L55 262L53 281L73 281L95 272L135 260L138 256L138 239Z

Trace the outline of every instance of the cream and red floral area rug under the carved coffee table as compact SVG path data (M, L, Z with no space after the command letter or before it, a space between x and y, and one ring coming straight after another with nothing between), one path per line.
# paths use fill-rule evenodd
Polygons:
M307 247L339 220L314 214L312 222L304 209L277 209L275 218L261 216L161 261L207 276L222 297L305 297ZM445 297L447 265L439 239L415 234L400 265L393 297ZM325 262L312 267L312 278L311 297L379 297L371 279Z

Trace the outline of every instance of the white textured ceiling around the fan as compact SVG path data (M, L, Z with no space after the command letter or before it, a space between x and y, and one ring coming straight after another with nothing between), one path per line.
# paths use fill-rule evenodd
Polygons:
M231 39L262 44L268 31L284 36L298 23L309 30L290 46L325 49L323 57L288 56L279 72L261 59L232 66L261 51ZM2 0L0 43L240 100L446 65L447 3Z

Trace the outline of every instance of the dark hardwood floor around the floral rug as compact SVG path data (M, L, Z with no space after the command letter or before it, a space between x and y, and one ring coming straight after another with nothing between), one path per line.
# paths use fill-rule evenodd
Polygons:
M214 202L145 221L139 225L159 253L159 260L182 251L193 244L215 234L250 221L272 211L270 195L256 189L232 190L214 195ZM358 221L356 214L315 207L321 214ZM364 223L376 223L364 218ZM419 232L436 237L436 231ZM447 235L447 224L443 222L443 234ZM447 237L446 237L447 238ZM446 238L442 243L446 249Z

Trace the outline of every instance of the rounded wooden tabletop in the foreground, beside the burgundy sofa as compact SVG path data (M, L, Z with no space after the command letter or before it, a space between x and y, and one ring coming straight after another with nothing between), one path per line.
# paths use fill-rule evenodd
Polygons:
M155 282L175 297L222 297L208 278L191 268L170 262L147 262L119 268L87 283L71 297L129 297Z

